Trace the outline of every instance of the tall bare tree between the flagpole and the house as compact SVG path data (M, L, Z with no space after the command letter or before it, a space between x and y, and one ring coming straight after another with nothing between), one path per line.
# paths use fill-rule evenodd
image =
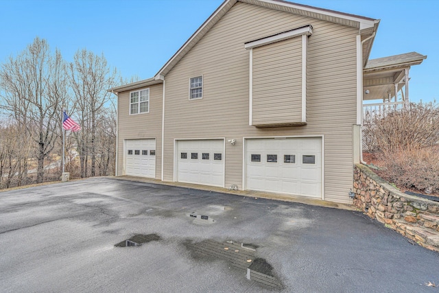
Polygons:
M102 54L97 56L86 49L77 51L70 65L71 85L75 93L75 108L80 115L81 132L78 133L81 177L95 176L97 161L97 132L102 127L102 113L112 95L107 89L115 84L116 70L110 69Z

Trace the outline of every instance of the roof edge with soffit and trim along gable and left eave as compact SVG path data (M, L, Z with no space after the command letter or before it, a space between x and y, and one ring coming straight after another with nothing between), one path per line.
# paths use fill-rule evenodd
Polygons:
M372 43L375 38L375 32L377 31L379 20L370 19L364 16L358 16L355 14L347 14L344 12L337 12L334 10L328 10L324 8L316 8L309 5L302 5L297 3L292 3L283 0L225 0L211 16L209 16L204 23L196 30L192 36L186 41L185 44L176 51L176 54L172 56L163 67L154 75L154 78L144 80L142 82L136 82L134 84L127 84L126 86L118 86L112 88L109 91L121 92L134 89L132 86L147 86L155 83L161 83L165 79L165 75L171 71L171 69L191 50L196 43L207 33L211 28L219 21L219 19L224 16L230 10L230 8L237 2L248 3L252 5L258 5L265 8L270 8L274 10L279 10L283 12L289 12L293 14L298 14L302 16L308 16L313 19L320 19L322 21L329 21L332 23L339 23L346 25L348 27L355 27L359 29L359 34L361 34L361 39L366 39L363 43L363 64L366 62L370 55L370 49L372 48ZM370 38L369 38L370 37Z

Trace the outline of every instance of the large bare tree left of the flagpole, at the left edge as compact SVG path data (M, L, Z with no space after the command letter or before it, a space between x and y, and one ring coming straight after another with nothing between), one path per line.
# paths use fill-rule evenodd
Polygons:
M60 126L60 107L66 98L65 63L58 50L51 54L47 41L35 38L19 56L0 69L5 110L34 140L37 183L43 182L44 161L54 149Z

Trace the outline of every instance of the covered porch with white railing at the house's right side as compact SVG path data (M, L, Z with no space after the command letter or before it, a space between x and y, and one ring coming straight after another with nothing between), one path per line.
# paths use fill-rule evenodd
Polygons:
M416 52L369 60L363 70L363 124L410 102L410 67L427 56Z

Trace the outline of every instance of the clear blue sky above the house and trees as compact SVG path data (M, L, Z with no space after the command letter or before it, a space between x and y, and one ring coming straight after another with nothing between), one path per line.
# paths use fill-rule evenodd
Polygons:
M36 36L68 61L78 49L104 53L124 78L151 78L222 0L0 0L0 63ZM296 3L381 19L370 58L416 51L410 100L438 100L439 1L296 0Z

